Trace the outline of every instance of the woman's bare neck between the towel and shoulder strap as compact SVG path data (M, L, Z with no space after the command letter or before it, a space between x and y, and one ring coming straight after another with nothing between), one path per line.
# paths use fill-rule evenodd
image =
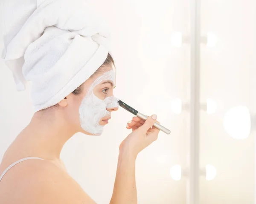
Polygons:
M76 133L60 114L58 111L36 112L15 140L20 153L59 160L64 144Z

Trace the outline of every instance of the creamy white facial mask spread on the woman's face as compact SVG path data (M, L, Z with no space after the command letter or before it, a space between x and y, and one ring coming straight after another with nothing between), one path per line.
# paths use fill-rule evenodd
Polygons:
M99 121L104 116L110 115L110 112L106 108L118 107L118 103L114 96L109 96L104 100L101 100L93 93L94 87L103 80L111 80L114 83L115 76L116 74L114 70L105 72L103 75L99 76L99 78L97 78L87 90L87 93L79 107L81 127L86 132L93 135L101 135L104 126L100 125Z

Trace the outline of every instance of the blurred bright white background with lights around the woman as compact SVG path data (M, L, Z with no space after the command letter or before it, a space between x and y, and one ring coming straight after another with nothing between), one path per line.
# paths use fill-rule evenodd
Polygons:
M146 115L156 113L171 129L137 158L138 203L255 204L256 1L89 2L111 28L115 96ZM200 52L192 55L197 25L191 10L197 3ZM191 123L194 56L200 110ZM17 92L3 60L0 68L1 161L33 109L29 89ZM119 109L112 116L102 136L77 134L61 153L70 175L98 204L110 201L119 144L130 133L125 129L130 113ZM190 162L192 124L199 127L196 166ZM195 167L198 178L192 179ZM191 181L199 186L197 195L191 195Z

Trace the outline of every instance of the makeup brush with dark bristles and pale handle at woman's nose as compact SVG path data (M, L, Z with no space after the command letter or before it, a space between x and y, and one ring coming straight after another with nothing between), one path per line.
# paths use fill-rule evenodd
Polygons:
M135 110L131 106L129 106L126 103L122 102L118 98L116 98L116 101L118 102L119 106L121 106L122 108L124 108L128 112L131 112L133 115L136 115L140 119L147 120L148 116L140 113L139 111ZM165 128L164 126L160 125L157 122L155 122L153 126L156 127L157 129L160 129L161 131L163 131L164 133L166 133L168 135L171 133L171 131L169 129Z

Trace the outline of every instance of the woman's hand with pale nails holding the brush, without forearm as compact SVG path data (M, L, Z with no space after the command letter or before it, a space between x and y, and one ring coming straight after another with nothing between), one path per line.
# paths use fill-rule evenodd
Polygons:
M148 117L146 121L133 117L126 126L127 129L132 129L132 133L120 144L120 152L126 152L136 158L141 150L157 140L160 130L152 127L154 122L157 122L156 119L157 115Z

